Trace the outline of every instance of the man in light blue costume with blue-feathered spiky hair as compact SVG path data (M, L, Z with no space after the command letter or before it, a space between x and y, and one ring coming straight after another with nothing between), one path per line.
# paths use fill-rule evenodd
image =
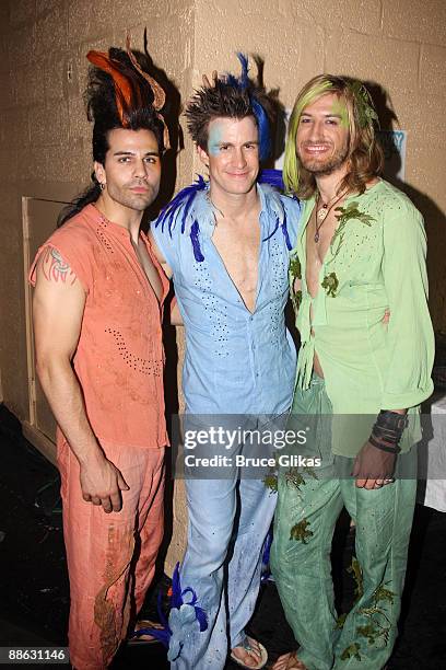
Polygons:
M203 78L187 106L209 182L179 193L152 226L186 328L183 389L192 421L281 415L293 394L295 348L284 307L301 211L296 200L258 183L259 161L270 151L271 107L239 59L239 78ZM262 668L267 651L245 626L275 496L236 469L213 476L186 480L188 545L174 581L179 596L168 658L175 670L222 670L230 648L242 667Z

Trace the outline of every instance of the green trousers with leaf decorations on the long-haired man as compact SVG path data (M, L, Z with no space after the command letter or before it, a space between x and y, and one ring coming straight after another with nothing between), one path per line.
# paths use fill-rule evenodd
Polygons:
M397 635L416 480L356 488L352 477L339 474L351 472L353 459L331 454L330 412L321 380L296 391L293 418L306 415L304 424L317 436L309 451L321 457L322 466L279 471L272 573L308 670L379 670ZM407 473L415 450L403 458ZM356 524L357 599L342 622L334 611L330 551L343 506Z

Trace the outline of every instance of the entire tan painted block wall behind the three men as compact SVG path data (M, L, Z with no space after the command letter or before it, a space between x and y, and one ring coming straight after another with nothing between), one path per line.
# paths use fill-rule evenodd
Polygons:
M85 54L124 45L127 32L141 48L144 26L155 65L175 81L183 100L202 72L237 67L238 49L265 58L266 84L280 88L286 107L320 71L385 89L409 132L406 181L426 217L431 307L436 327L446 331L444 0L3 0L0 378L8 406L27 418L21 197L71 197L85 184L91 137L81 100ZM178 187L200 170L187 138L177 170ZM178 492L171 566L186 528L181 486Z

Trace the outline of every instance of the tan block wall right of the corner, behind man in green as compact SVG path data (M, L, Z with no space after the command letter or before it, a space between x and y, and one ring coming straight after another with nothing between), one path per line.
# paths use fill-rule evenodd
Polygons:
M196 76L236 67L237 49L265 57L265 81L287 108L322 71L386 91L408 131L407 192L426 220L431 312L446 331L446 2L196 0Z

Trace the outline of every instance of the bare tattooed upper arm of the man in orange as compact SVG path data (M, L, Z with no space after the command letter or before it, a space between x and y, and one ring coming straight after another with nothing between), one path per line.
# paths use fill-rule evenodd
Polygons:
M33 321L37 359L71 358L78 345L85 291L57 250L49 247L36 268Z

